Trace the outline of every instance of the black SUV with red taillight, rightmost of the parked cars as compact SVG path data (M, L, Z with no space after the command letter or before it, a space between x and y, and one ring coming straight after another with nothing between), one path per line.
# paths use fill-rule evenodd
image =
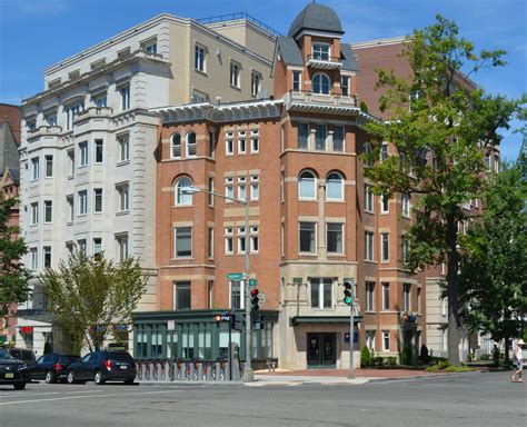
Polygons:
M95 381L102 385L117 380L133 384L136 374L136 361L127 351L99 350L70 365L68 383Z

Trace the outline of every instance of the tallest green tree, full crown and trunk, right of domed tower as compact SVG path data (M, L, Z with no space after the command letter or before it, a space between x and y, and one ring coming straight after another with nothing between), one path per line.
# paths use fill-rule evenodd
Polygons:
M415 30L401 53L411 76L378 70L377 88L387 122L370 121L364 129L374 146L366 176L374 192L415 195L415 220L406 235L407 268L417 271L447 265L448 358L459 364L460 305L458 297L458 224L467 217L461 205L478 198L485 182L484 156L500 141L498 130L508 128L518 102L489 96L468 80L483 67L505 62L504 51L481 51L458 37L458 27L441 16ZM466 75L463 75L464 70ZM377 161L382 141L397 152Z

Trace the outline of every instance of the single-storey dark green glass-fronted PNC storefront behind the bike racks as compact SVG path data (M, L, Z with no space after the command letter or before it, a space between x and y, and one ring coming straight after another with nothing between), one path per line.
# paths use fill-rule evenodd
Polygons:
M225 310L150 311L133 315L133 357L137 359L227 358L229 335L240 346L245 359L245 312L235 311L236 321L216 322ZM277 311L260 311L252 332L252 358L267 360L274 355L274 328Z

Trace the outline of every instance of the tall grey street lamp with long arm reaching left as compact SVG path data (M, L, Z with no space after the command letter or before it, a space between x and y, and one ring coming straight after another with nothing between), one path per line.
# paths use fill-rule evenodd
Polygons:
M212 195L215 197L220 197L226 200L233 201L235 203L243 205L246 208L246 272L245 272L245 286L243 286L243 297L246 300L245 310L246 310L246 368L243 369L243 383L250 383L255 380L255 374L252 371L251 365L251 319L250 319L250 292L249 292L249 271L250 271L250 257L249 257L249 200L246 199L236 199L233 197L220 195L219 192L213 192L209 190L203 190L202 188L197 187L182 187L179 189L185 195L196 195L197 192L205 192L207 195ZM230 349L229 349L230 350Z

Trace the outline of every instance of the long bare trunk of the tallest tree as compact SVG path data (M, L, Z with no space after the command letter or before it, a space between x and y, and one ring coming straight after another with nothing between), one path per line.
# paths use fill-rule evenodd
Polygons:
M459 297L458 297L458 267L457 224L454 215L447 217L447 297L448 297L448 361L459 365Z

